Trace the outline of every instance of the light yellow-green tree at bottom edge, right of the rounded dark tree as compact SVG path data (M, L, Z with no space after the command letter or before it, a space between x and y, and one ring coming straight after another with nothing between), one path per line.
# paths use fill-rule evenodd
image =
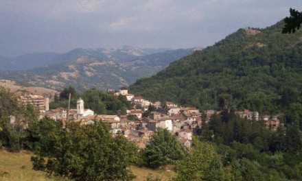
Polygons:
M193 148L176 165L176 180L222 180L222 163L216 147L194 139Z

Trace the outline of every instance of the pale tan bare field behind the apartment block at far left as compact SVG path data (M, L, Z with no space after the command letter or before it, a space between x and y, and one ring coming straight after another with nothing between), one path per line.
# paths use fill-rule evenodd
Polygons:
M26 86L19 86L16 84L16 82L12 80L0 80L0 86L3 86L4 88L10 89L11 93L17 93L21 91L28 91L33 94L37 95L43 95L49 98L53 98L58 91L56 90L51 90L49 88L42 88L42 87L26 87Z

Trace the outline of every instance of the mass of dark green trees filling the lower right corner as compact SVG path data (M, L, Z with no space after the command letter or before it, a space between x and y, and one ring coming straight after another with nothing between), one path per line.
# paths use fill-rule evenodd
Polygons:
M218 145L223 180L301 180L302 136L298 123L277 132L262 121L213 114L200 139ZM207 132L213 132L208 138Z

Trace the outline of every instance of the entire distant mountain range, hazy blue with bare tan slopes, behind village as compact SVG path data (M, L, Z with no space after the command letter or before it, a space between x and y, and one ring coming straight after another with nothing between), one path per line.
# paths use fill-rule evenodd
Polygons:
M0 79L60 90L97 87L118 89L149 77L195 49L73 49L67 53L34 53L0 57Z

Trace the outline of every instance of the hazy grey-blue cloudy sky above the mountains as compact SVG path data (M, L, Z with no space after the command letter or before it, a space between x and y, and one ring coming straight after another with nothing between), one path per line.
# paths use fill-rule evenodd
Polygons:
M268 27L301 0L0 0L0 56L75 48L207 47Z

